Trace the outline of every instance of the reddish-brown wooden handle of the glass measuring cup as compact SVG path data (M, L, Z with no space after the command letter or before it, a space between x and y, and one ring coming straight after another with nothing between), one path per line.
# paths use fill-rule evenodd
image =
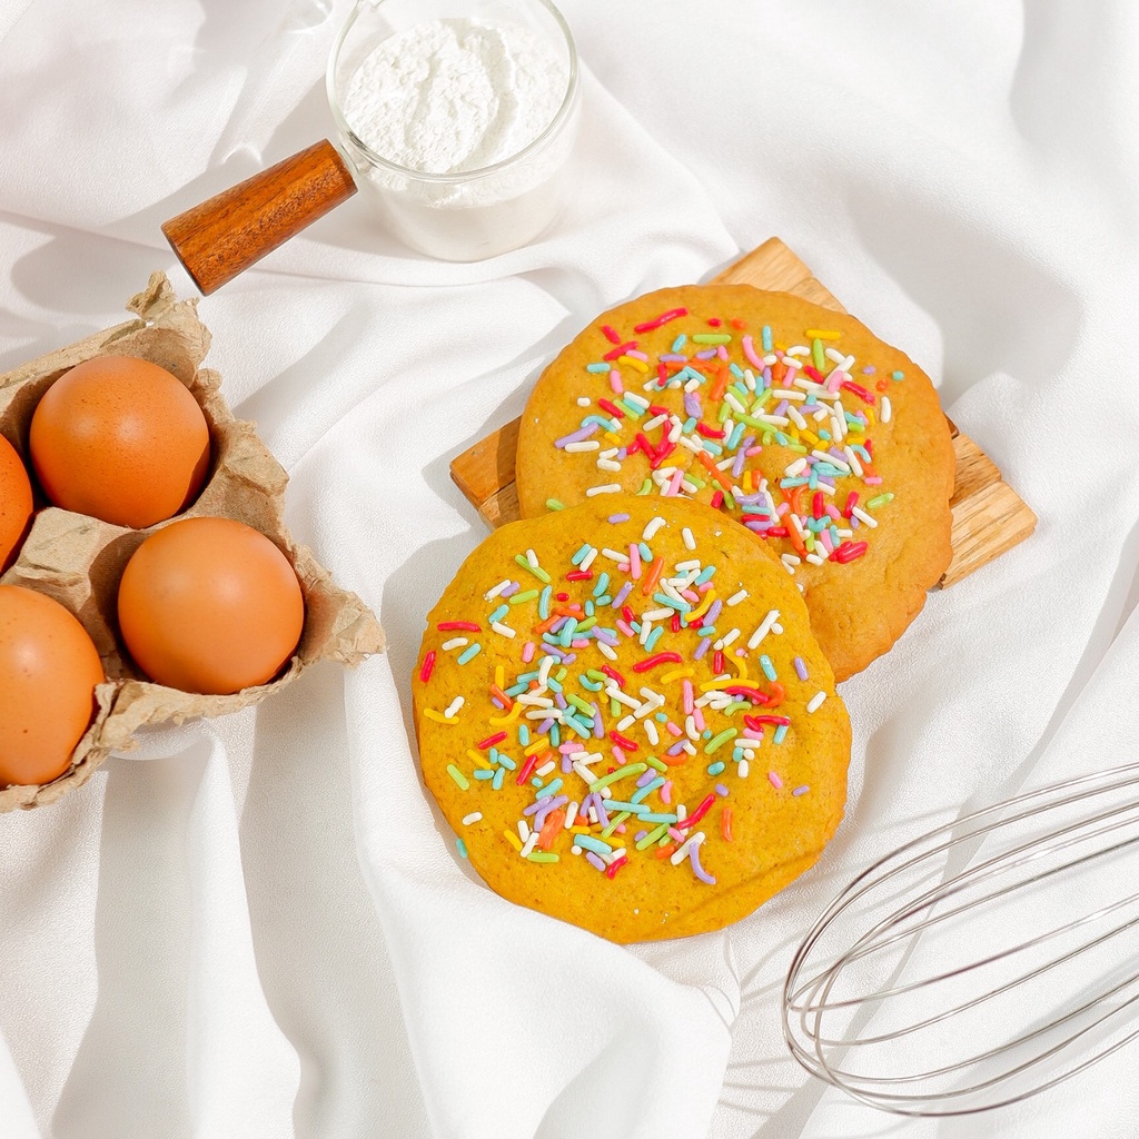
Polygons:
M179 261L204 295L355 194L327 139L164 222Z

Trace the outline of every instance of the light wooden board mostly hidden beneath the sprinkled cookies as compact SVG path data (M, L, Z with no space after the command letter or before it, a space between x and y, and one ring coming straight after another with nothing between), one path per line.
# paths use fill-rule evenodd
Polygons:
M794 293L835 312L846 311L777 237L713 277L712 284L755 285ZM514 484L518 424L515 419L500 427L451 462L451 478L491 528L518 518L518 493ZM962 435L952 420L949 426L957 456L957 475L950 499L953 560L941 579L943 587L967 577L1023 542L1036 525L1036 516L1005 482L997 465L972 439Z

